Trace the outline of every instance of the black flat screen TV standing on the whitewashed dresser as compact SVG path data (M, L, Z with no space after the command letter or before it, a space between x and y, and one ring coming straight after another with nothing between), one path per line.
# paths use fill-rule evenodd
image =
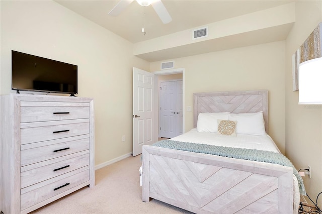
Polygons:
M12 89L77 94L77 65L13 50Z

